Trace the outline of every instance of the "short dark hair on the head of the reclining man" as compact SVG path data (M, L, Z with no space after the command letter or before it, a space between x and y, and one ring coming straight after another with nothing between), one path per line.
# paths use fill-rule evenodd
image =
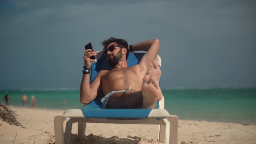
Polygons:
M126 59L127 59L128 56L129 56L129 51L128 51L128 43L125 39L117 39L117 38L114 38L114 37L104 39L102 41L103 50L106 49L106 47L109 45L109 43L114 43L114 42L117 43L118 46L126 48Z

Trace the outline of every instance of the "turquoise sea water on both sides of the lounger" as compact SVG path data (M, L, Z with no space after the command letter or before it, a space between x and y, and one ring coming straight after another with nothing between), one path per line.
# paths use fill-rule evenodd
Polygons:
M180 119L256 124L256 88L164 89L165 109ZM4 91L0 102L4 102ZM9 91L10 105L35 95L37 108L81 108L79 90ZM30 107L30 103L26 104Z

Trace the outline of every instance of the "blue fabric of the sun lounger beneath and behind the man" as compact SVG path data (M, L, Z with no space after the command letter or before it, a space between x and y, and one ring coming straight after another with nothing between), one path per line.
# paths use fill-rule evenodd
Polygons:
M137 65L144 53L130 52L127 64L128 67ZM112 67L108 64L104 55L97 62L91 65L90 83L100 70L111 70ZM100 98L95 98L94 101L81 108L85 118L147 118L151 109L101 109L102 102ZM159 108L159 102L157 102Z

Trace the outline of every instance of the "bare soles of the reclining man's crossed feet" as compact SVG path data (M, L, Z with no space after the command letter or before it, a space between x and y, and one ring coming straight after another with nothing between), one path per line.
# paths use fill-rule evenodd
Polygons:
M158 62L154 60L148 68L147 74L143 78L142 95L143 108L154 108L156 101L160 101L163 94L159 87L161 69Z

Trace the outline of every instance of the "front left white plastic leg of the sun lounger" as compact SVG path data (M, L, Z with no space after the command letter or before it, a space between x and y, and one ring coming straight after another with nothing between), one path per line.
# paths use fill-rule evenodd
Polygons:
M55 144L64 144L63 121L65 121L65 119L65 117L60 116L54 118Z

